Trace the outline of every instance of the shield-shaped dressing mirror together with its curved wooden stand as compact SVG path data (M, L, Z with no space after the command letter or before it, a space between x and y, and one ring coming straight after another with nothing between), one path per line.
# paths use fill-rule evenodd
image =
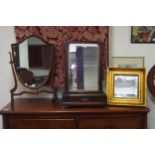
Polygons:
M16 95L24 93L53 93L52 86L55 68L55 47L38 36L29 36L19 43L12 44L10 53L11 66L15 86L11 89L11 100ZM15 93L18 81L27 89ZM52 90L52 91L51 91Z

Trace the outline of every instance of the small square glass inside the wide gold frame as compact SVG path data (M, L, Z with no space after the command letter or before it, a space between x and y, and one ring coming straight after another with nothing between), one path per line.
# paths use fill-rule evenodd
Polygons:
M138 98L138 76L115 75L114 97L128 99Z

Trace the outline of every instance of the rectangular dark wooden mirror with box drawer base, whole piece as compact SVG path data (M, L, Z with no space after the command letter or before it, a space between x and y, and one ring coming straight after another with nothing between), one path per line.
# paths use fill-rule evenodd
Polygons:
M102 80L102 46L99 42L71 42L66 45L66 106L105 105Z

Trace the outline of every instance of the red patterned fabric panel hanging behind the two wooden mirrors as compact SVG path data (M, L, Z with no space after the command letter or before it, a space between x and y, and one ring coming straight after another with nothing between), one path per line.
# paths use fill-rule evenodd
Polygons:
M71 41L99 41L103 45L103 73L108 60L108 27L106 26L15 26L17 42L29 35L42 37L56 47L54 86L64 86L64 45Z

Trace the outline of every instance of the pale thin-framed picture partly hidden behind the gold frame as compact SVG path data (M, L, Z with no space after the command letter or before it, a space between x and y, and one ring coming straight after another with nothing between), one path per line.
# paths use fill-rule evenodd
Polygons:
M112 57L111 67L144 68L144 57Z

